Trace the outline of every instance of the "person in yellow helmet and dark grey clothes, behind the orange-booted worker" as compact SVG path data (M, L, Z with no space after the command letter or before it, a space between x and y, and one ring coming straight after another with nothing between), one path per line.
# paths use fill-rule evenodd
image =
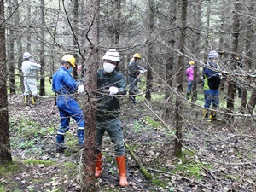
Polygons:
M138 53L134 54L131 61L128 63L128 84L130 86L129 95L133 103L137 103L137 83L139 81L138 77L140 73L147 72L146 69L139 66L139 61L141 60L141 55Z

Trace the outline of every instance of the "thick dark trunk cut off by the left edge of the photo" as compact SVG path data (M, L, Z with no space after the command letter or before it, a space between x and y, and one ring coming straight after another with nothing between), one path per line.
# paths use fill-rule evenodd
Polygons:
M9 141L8 95L6 85L6 49L4 26L4 1L0 2L0 165L12 162Z

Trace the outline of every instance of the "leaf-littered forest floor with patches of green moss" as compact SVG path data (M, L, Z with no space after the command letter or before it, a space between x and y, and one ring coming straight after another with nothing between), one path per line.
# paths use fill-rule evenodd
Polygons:
M24 106L22 96L9 96L9 130L13 164L0 166L0 192L74 192L81 187L82 150L76 146L71 121L65 153L55 153L59 113L53 98ZM174 103L174 102L173 102ZM183 156L173 155L175 108L156 102L136 105L124 99L121 121L125 143L150 173L147 180L125 150L129 186L119 188L118 170L108 135L104 137L104 169L96 191L256 191L256 126L251 117L207 122L201 109L184 100ZM172 104L173 105L173 104ZM162 107L165 106L165 107ZM169 117L163 115L166 108ZM224 115L220 115L224 119Z

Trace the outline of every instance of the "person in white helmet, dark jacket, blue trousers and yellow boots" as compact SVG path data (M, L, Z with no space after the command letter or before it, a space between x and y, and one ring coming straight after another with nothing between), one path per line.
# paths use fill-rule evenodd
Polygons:
M205 104L203 108L203 119L207 119L208 110L212 105L212 110L209 116L210 120L219 120L217 118L218 108L218 88L221 81L221 73L218 73L218 53L215 50L212 50L208 54L208 61L206 67L203 68L204 75L204 97Z

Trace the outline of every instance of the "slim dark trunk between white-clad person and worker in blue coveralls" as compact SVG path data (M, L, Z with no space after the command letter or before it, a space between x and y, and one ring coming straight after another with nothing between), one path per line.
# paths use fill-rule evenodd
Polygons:
M45 19L44 19L44 0L41 0L41 20L43 23L43 27L41 28L41 44L40 44L40 96L45 96L45 81L44 81L44 72L45 72L45 57L44 57L44 26L45 26Z

